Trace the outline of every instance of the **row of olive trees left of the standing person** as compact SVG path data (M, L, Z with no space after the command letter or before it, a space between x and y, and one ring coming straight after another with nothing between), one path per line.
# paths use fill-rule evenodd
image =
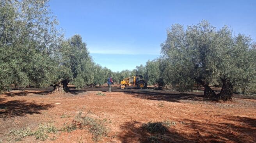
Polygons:
M64 39L48 0L0 0L0 92L11 85L68 92L103 84L111 71L92 61L80 35Z

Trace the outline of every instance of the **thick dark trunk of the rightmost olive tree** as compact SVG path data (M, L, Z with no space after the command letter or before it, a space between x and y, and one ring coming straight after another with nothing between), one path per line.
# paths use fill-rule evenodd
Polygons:
M233 100L233 86L227 79L222 79L222 88L217 96L223 101Z

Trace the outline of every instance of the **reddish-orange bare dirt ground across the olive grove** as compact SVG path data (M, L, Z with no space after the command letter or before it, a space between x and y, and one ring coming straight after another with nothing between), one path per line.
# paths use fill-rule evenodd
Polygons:
M51 94L44 89L14 90L0 95L0 143L94 143L87 129L59 131L45 140L34 136L12 139L11 130L51 122L55 127L72 122L75 115L105 120L109 132L100 143L139 143L151 136L143 123L171 121L167 143L256 143L256 100L235 95L233 102L213 102L203 92L172 90L84 88L72 93ZM102 91L106 96L96 95ZM251 97L249 97L251 98ZM58 104L56 104L58 103ZM66 115L66 117L63 117Z

